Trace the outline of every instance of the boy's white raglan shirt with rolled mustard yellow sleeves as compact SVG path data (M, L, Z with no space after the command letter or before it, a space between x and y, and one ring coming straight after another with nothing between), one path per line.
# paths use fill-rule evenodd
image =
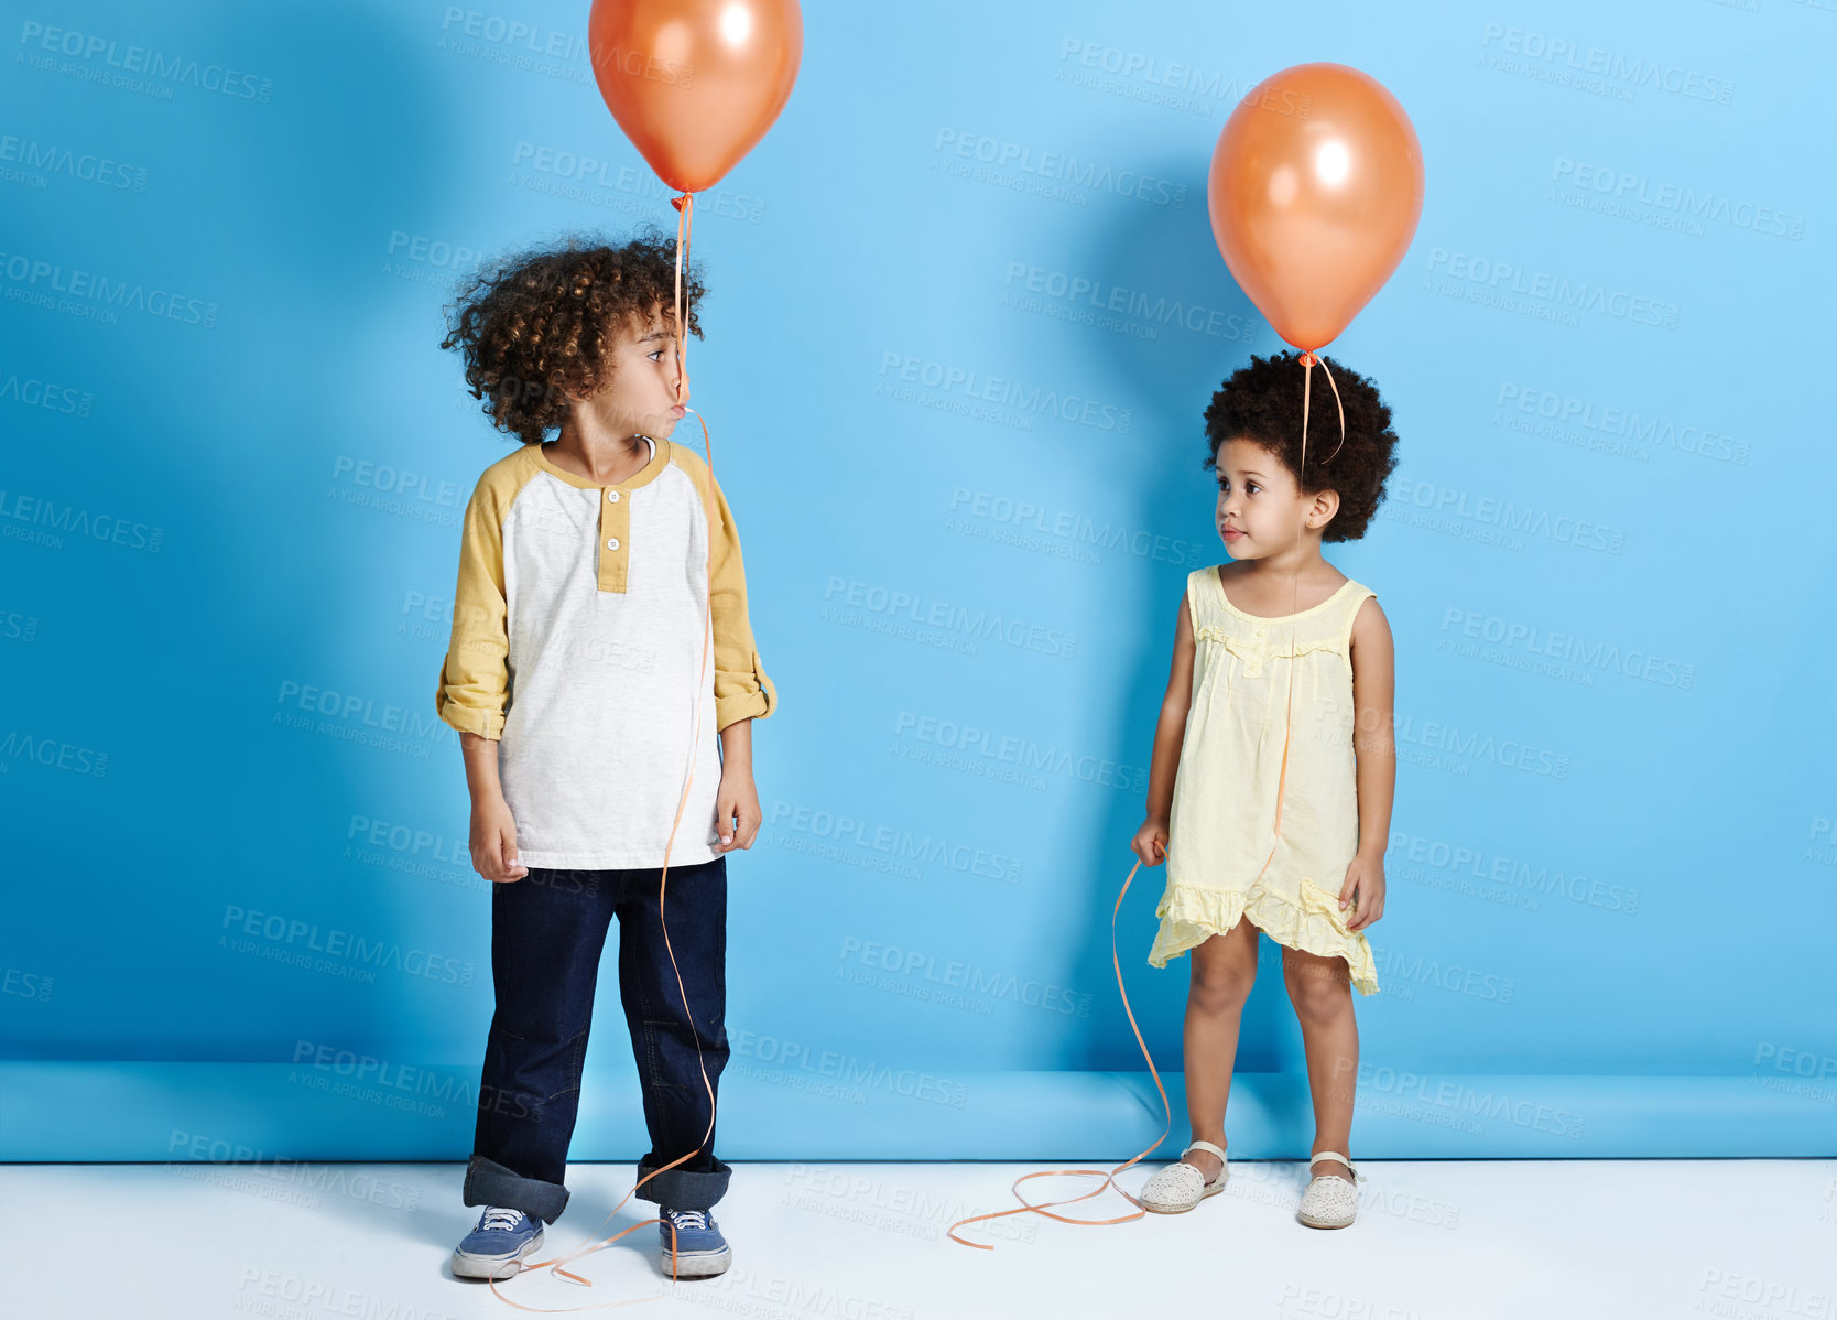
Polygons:
M707 463L667 439L650 441L650 461L617 485L568 472L527 443L487 467L465 509L435 710L498 741L518 860L663 866L698 700L672 868L716 857L716 734L777 706L753 647L727 500Z

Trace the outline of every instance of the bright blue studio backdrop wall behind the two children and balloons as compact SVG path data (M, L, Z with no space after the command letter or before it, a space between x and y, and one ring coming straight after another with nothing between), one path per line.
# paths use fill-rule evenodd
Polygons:
M489 893L434 684L459 513L511 441L441 307L487 254L671 226L667 191L597 96L586 4L4 7L4 1153L465 1158ZM805 20L693 248L696 406L783 700L731 862L724 1153L1124 1156L1161 1129L1110 910L1174 607L1225 559L1201 410L1280 347L1205 169L1236 97L1313 59L1383 81L1427 169L1328 349L1402 436L1372 533L1330 553L1398 642L1359 1149L1833 1153L1837 13ZM1071 281L1161 314L1093 324ZM977 410L972 373L1080 404ZM1179 1138L1161 882L1117 928ZM312 928L399 956L314 962ZM1275 952L1245 1155L1310 1136ZM641 1149L610 962L603 987L577 1158Z

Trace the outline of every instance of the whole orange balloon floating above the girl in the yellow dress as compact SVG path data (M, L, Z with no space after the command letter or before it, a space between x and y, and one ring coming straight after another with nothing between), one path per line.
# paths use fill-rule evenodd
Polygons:
M1233 278L1277 335L1317 349L1409 250L1422 145L1378 79L1347 64L1295 64L1231 112L1205 195Z

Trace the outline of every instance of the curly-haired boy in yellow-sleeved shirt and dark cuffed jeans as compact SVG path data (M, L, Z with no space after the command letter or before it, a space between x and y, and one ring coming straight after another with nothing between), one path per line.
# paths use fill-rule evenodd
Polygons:
M568 1204L612 917L650 1138L637 1177L694 1153L637 1195L659 1206L667 1272L731 1263L711 1213L731 1169L707 1103L729 1055L726 855L759 833L751 721L777 691L753 645L727 500L671 441L685 415L674 279L656 232L531 250L470 279L441 344L463 353L472 395L520 441L467 504L435 697L465 757L472 866L494 881L496 1009L463 1188L485 1210L454 1250L461 1276L516 1274ZM704 292L685 270L696 338Z

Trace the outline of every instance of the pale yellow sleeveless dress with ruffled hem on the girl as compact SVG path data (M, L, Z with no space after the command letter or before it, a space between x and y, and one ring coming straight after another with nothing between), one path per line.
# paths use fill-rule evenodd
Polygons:
M1356 914L1339 906L1359 844L1352 620L1369 596L1376 592L1348 577L1312 609L1260 618L1231 603L1216 564L1187 577L1192 704L1174 778L1152 967L1231 930L1247 914L1277 943L1345 958L1354 989L1378 993L1370 943L1347 930Z

